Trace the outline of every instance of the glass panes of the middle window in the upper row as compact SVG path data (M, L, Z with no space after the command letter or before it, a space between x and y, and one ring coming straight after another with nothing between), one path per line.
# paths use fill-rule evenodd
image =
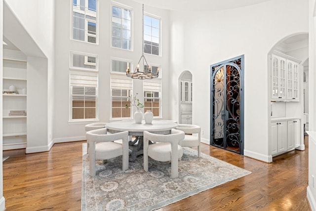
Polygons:
M131 10L112 5L112 47L131 49Z

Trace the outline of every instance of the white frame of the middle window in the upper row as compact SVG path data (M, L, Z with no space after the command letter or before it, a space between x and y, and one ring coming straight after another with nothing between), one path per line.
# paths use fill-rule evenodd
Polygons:
M125 48L122 48L122 47L113 46L113 20L112 20L113 19L113 6L119 7L121 9L130 10L130 40L129 40L130 41L130 49L125 49ZM118 49L122 49L122 50L133 51L133 20L134 20L133 8L130 7L130 6L127 6L125 4L121 4L121 3L118 3L118 2L112 1L110 10L111 10L110 11L110 14L111 14L111 20L110 20L110 27L111 27L111 29L110 29L110 38L111 38L110 39L110 46L113 47L113 48L118 48ZM122 35L121 35L120 41L122 41ZM122 46L122 42L121 42L121 46Z

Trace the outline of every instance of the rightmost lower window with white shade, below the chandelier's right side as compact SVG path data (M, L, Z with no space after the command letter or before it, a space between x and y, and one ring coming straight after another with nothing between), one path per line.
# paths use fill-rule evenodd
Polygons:
M151 110L154 117L161 117L161 79L144 81L144 111Z

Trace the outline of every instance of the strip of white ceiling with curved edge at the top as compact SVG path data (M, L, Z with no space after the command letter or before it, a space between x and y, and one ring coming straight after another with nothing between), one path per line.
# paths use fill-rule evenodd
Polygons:
M269 0L134 0L146 5L177 11L212 11L253 5Z

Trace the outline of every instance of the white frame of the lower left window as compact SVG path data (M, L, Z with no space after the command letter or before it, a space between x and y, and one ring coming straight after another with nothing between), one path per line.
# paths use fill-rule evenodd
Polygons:
M86 67L77 67L74 66L74 55L80 55L80 56L84 56L84 61L83 64L84 65L92 65L95 66L95 69L92 68L86 68ZM96 62L95 64L86 64L85 60L87 57L95 57ZM77 52L77 51L71 51L70 52L70 67L69 67L69 123L80 123L80 122L90 122L90 121L98 121L99 120L99 109L98 109L98 100L99 100L99 71L98 71L98 55L97 54L90 54L90 53L83 53L83 52ZM84 90L87 87L95 87L95 118L85 118L85 109L83 109L83 119L73 119L73 87L74 85L71 84L71 75L72 72L74 71L78 71L78 72L82 72L82 73L93 73L94 75L96 75L97 78L97 82L96 82L96 86L89 86L89 85L82 85L82 87L84 87ZM80 85L79 85L80 86ZM94 95L92 95L94 96ZM85 97L85 91L82 94L82 97ZM83 102L83 108L85 107L85 100Z

